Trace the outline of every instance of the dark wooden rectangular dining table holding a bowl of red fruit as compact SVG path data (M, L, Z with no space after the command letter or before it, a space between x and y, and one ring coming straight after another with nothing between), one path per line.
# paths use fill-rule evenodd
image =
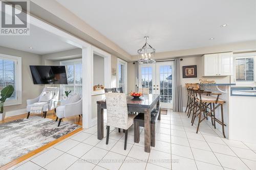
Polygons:
M144 113L144 151L150 152L151 149L151 111L156 106L160 108L159 94L144 94L139 99L126 94L128 112ZM97 129L98 139L103 139L103 109L106 109L106 101L97 101ZM160 119L160 114L158 119Z

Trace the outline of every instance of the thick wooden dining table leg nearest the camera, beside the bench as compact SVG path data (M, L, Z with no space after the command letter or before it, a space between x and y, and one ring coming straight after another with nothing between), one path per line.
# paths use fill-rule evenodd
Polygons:
M151 147L151 129L150 129L150 109L144 110L144 151L150 152Z

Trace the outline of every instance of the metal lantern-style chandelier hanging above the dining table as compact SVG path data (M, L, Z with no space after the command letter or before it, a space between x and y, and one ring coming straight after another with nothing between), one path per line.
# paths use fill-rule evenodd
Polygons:
M152 64L154 60L156 49L147 43L148 36L144 36L145 44L138 50L139 64Z

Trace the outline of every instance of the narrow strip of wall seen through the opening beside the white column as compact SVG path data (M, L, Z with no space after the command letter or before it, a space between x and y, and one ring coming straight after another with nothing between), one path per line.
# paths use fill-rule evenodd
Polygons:
M93 85L104 86L104 58L93 54Z

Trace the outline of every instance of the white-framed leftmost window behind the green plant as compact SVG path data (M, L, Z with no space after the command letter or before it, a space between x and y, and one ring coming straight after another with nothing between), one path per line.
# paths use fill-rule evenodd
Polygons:
M22 58L0 54L0 90L8 85L14 92L5 102L5 106L22 104Z

